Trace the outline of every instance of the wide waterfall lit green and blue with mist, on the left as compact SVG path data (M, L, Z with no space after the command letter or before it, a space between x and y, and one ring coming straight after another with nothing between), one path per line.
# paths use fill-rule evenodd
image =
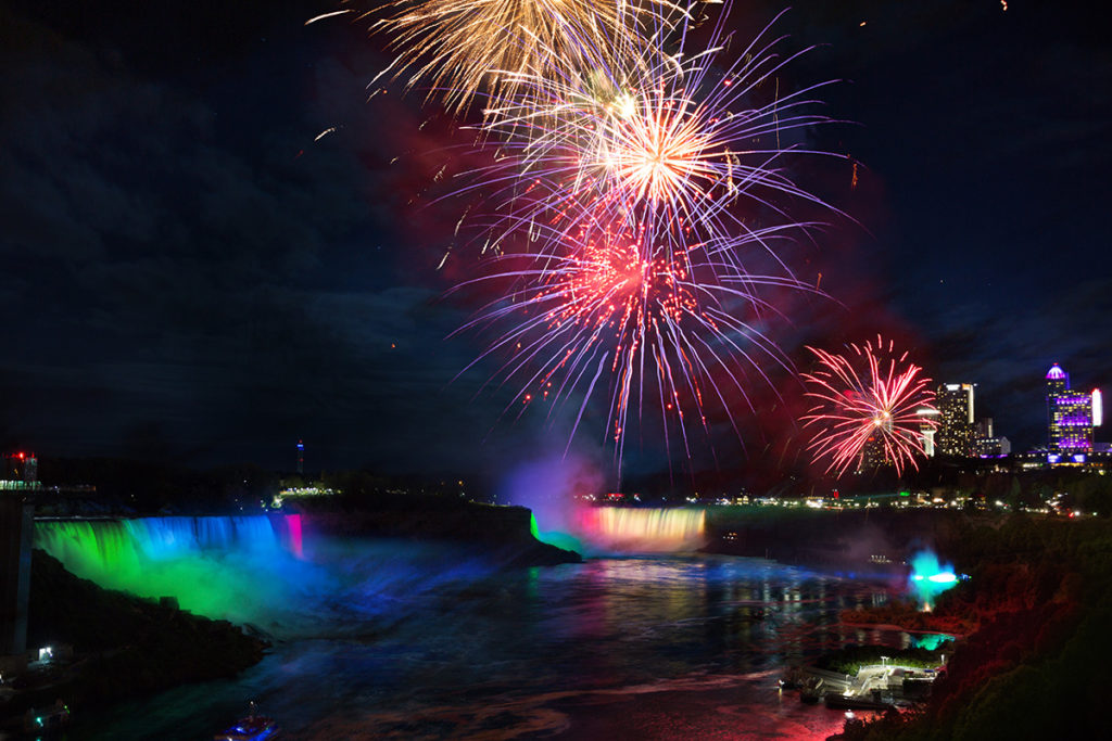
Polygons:
M39 521L36 545L78 577L279 638L364 630L413 600L457 589L498 564L448 543L306 538L298 514Z

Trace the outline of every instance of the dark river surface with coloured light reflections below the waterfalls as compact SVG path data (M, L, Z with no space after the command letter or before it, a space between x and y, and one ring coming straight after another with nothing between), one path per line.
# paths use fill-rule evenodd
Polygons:
M115 709L79 738L211 738L254 699L289 739L822 739L842 714L782 695L783 668L846 642L906 642L837 624L883 603L883 584L758 559L479 569L341 594L299 605L315 634L237 679Z

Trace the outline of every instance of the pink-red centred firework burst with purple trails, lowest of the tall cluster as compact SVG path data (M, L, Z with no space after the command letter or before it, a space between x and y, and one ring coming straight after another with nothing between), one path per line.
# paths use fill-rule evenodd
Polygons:
M764 377L766 358L786 368L776 346L749 320L774 311L756 289L810 287L735 270L722 253L737 249L736 240L668 250L669 256L648 230L579 223L577 239L559 253L493 261L510 267L471 283L508 280L515 288L464 329L513 321L485 354L509 354L498 375L520 383L516 403L557 405L579 392L572 435L602 387L619 460L629 412L639 415L647 402L659 407L665 443L671 445L669 429L678 430L689 455L689 415L709 431L708 401L727 412L745 401L747 368Z

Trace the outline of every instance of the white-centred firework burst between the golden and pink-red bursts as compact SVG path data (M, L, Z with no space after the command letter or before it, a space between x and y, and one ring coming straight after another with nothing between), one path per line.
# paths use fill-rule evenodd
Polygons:
M635 57L589 60L587 72L515 76L515 98L494 100L483 127L498 142L497 161L474 173L483 189L505 186L494 200L502 199L496 208L506 216L493 231L550 223L589 202L629 229L666 228L682 251L693 232L696 240L728 239L752 231L756 213L791 220L786 201L822 204L784 162L825 152L780 146L784 132L830 122L808 112L822 86L753 102L798 57L777 57L778 40L767 40L767 31L724 71L715 64L729 38L718 26L712 44L694 54L683 49L684 33L669 53L654 40Z

